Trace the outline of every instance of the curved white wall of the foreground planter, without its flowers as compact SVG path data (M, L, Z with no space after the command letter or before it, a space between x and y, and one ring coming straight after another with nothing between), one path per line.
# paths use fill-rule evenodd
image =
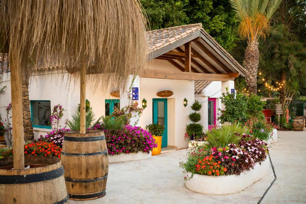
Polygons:
M230 176L207 176L194 174L190 180L185 182L186 188L191 191L211 195L226 195L244 190L255 182L269 174L270 162L267 158L259 165L256 163L254 169L244 171ZM187 173L188 177L191 172Z

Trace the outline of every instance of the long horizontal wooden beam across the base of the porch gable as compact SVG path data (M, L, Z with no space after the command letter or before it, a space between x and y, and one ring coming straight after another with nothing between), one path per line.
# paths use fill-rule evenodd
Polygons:
M205 80L205 81L228 81L234 80L230 74L205 74L192 72L174 72L159 69L144 69L140 75L144 78L177 79L177 80Z

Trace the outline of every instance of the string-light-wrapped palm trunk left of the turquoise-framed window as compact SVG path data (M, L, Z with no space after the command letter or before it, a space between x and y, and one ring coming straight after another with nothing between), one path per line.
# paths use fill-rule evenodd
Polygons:
M28 72L24 72L22 76L22 109L24 139L26 141L34 139L29 101L29 80L30 74Z

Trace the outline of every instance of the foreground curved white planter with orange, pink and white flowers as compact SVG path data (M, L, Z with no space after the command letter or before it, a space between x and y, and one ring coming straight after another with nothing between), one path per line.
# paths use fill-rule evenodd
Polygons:
M243 131L248 132L248 130L248 128L242 128L239 124L224 125L222 128L208 130L206 132L206 143L202 146L198 145L190 148L187 152L186 161L180 163L180 166L185 169L184 172L187 173L187 176L185 176L186 187L202 193L232 193L231 190L224 190L222 186L222 182L231 180L226 177L237 178L239 175L245 175L246 172L251 172L256 166L260 166L267 158L267 143L253 135L241 133ZM213 145L218 146L214 147ZM264 172L259 173L259 176L254 176L255 180L261 179L261 175L266 174ZM223 181L218 179L217 184L209 185L205 179L202 179L208 178L207 176L222 176L225 179ZM252 182L247 181L245 185L241 185L242 189L251 184ZM198 189L199 186L205 189ZM207 188L209 189L207 190ZM216 189L220 189L220 191ZM240 187L235 189L242 190ZM212 192L212 190L216 191ZM237 192L236 190L233 191Z

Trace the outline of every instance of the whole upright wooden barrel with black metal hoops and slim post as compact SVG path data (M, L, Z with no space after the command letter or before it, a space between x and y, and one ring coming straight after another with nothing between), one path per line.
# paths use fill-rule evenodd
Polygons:
M92 200L105 195L108 157L104 132L65 132L62 164L69 199Z

